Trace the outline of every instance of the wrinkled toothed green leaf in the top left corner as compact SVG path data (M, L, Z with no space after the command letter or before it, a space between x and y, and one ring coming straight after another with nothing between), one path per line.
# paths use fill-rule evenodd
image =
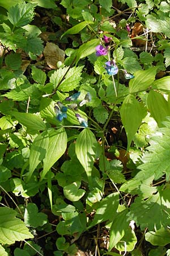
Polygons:
M8 19L14 27L23 27L31 23L34 17L33 5L31 3L20 3L8 10Z

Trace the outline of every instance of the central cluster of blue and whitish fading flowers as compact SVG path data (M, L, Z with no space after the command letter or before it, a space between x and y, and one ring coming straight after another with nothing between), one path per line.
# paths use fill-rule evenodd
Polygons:
M65 100L66 101L76 101L76 100L78 100L79 96L80 96L80 92L74 93L73 95L65 98ZM90 95L89 92L87 92L84 99L79 102L79 106L83 106L83 105L87 104L90 101L91 101L91 95ZM69 104L69 105L65 106L60 101L58 101L54 108L55 108L55 111L56 111L56 118L59 122L61 122L63 120L63 118L67 118L67 109L77 111L78 110L78 104L73 103L73 104ZM78 119L81 126L83 126L84 128L88 127L88 123L84 118L82 118L79 114L75 114L75 116Z

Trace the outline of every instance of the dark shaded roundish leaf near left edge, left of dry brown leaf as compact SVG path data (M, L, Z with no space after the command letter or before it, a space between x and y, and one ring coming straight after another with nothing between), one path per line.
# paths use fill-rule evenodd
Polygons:
M21 56L19 53L11 53L5 58L5 64L7 68L12 70L18 70L22 64Z

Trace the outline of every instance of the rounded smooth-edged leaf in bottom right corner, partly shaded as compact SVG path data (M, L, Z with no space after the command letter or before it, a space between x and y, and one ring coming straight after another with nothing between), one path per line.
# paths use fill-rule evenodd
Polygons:
M145 239L151 245L165 246L170 243L170 232L165 228L160 228L156 232L150 231L145 234Z

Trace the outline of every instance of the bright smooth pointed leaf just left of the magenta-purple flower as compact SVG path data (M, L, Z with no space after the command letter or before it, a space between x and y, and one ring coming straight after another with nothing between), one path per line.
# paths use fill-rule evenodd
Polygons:
M82 44L82 46L80 46L78 51L76 52L76 63L78 63L80 59L83 59L84 57L87 57L88 55L94 53L96 51L96 46L98 46L99 44L99 39L92 39L87 43Z

